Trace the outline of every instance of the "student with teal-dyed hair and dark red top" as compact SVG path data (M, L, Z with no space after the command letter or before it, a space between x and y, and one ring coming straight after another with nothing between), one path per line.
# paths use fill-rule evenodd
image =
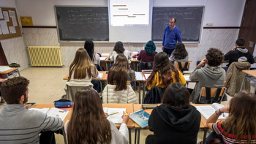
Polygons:
M150 40L146 43L144 50L140 50L137 59L143 62L153 62L156 54L156 45L154 45L154 42Z

